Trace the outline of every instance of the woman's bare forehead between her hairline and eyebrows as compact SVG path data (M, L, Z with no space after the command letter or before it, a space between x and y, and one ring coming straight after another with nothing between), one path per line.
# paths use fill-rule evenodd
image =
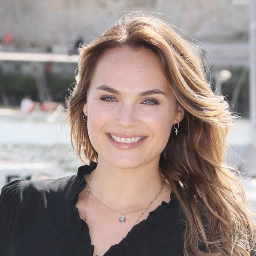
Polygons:
M167 79L162 70L161 60L149 49L133 49L128 46L110 49L96 64L92 83L121 82L137 83L142 86L166 86ZM121 81L120 81L121 80Z

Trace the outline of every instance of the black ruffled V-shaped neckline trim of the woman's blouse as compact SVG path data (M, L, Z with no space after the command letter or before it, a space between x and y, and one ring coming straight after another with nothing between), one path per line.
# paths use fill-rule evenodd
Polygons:
M84 179L85 174L90 174L97 166L96 162L91 162L90 165L80 166L78 168L77 172L77 178L79 181L78 186L76 186L74 190L74 200L73 200L73 206L75 207L75 204L78 200L78 194L83 190L83 188L86 187L87 182ZM173 208L174 212L177 212L177 200L173 192L170 193L170 201L168 203L162 202L161 205L159 205L156 209L151 211L147 217L147 219L142 220L138 224L136 224L132 230L129 231L126 237L122 241L120 241L119 244L112 245L107 252L105 252L104 256L110 256L110 255L124 255L130 248L134 248L136 245L138 245L141 241L146 239L152 232L155 232L158 229L161 229L163 225L166 224L167 221L172 218L170 215L170 212L172 211L171 208ZM77 208L75 207L75 218L76 220L79 220L79 223L76 221L77 224L79 224L79 230L85 229L86 237L90 241L90 234L89 234L89 228L87 226L87 223L84 222L82 219L80 219L79 212ZM84 239L84 238L83 238ZM79 240L81 242L84 240L81 240L81 237ZM88 246L88 244L87 244ZM94 246L90 244L91 251L93 252ZM87 247L88 250L88 247ZM93 253L92 253L93 254ZM92 255L91 254L91 255Z

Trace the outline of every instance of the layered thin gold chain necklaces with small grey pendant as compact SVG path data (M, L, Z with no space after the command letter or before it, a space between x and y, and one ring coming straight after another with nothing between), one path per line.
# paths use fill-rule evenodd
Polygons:
M120 213L121 216L119 217L119 222L120 223L124 223L125 222L125 216L124 215L127 215L129 213L132 213L132 212L137 212L137 211L143 211L141 213L141 215L139 216L139 218L136 220L136 222L133 224L133 226L135 226L139 221L140 219L142 218L142 216L144 215L144 213L147 211L147 209L151 206L152 203L154 203L155 200L158 199L158 196L161 194L163 188L164 188L164 185L165 185L165 181L162 179L162 187L160 189L160 191L157 193L157 195L154 197L154 199L144 208L140 208L140 209L137 209L137 210L133 210L133 211L128 211L128 212L121 212L121 211L117 211L117 210L114 210L112 208L110 208L109 206L107 206L105 203L102 203L97 197L95 197L92 192L90 191L90 181L91 181L91 177L92 177L92 174L93 174L94 171L92 171L90 173L90 177L89 177L89 180L87 182L87 190L86 190L86 195L85 195L85 200L84 200L84 218L83 220L85 222L87 222L87 211L86 211L86 207L87 207L87 201L88 201L88 196L89 196L89 192L90 194L94 197L95 200L97 200L99 203L101 203L102 205L104 205L106 208L108 208L109 210L111 211L114 211L114 212L117 212L117 213ZM133 227L132 226L132 227Z

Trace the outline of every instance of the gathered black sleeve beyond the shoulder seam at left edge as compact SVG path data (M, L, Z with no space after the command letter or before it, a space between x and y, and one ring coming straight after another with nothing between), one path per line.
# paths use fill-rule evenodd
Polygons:
M6 184L0 194L0 252L5 255L8 247L9 237L15 216L17 212L18 196L17 189L19 187L18 181L12 181ZM2 254L3 253L3 254Z

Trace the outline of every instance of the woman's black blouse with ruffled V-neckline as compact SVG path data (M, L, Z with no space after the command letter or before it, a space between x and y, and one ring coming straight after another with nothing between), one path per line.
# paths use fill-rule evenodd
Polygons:
M84 174L55 180L13 181L0 195L1 256L92 256L87 223L75 204L86 186ZM104 256L182 256L184 222L173 193Z

